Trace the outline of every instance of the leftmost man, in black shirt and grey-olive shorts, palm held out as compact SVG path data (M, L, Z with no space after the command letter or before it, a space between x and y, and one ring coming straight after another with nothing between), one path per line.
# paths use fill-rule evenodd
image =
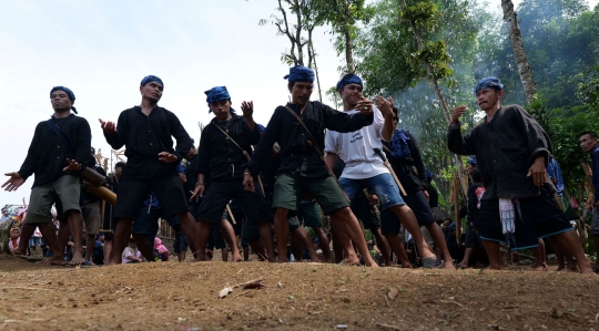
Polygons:
M75 97L71 90L55 86L50 91L50 100L54 114L50 120L38 124L21 169L6 174L10 179L2 185L8 192L17 190L29 176L35 175L21 241L13 254L26 255L27 242L35 227L39 227L52 251L52 257L45 262L64 263L64 247L59 245L50 213L52 204L60 198L74 238L71 263L80 265L83 262L83 219L79 206L79 173L91 158L91 130L85 118L71 114L71 110L77 113L73 107Z

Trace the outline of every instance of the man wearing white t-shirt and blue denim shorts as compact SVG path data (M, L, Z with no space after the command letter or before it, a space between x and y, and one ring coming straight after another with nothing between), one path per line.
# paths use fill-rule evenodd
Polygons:
M346 74L337 83L337 92L343 100L344 111L349 115L356 113L358 101L363 97L362 79L355 74ZM382 209L390 209L402 221L404 227L414 236L414 242L425 267L436 267L435 255L430 251L423 239L423 234L412 209L404 203L399 189L374 148L383 151L380 139L390 141L393 136L393 114L383 117L380 111L373 107L374 122L351 133L328 131L325 139L326 165L333 168L337 154L345 159L345 169L339 178L339 184L352 199L361 187L374 192L380 200Z

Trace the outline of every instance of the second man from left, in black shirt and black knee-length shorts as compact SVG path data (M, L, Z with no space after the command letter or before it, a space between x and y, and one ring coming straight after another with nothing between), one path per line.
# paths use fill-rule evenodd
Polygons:
M161 79L145 76L140 86L140 106L123 111L118 124L100 120L106 142L114 149L125 146L128 157L116 193L114 217L119 221L111 265L121 263L133 219L138 217L150 190L154 192L162 204L165 217L179 217L181 229L190 239L192 249L195 251L199 247L193 236L195 221L189 211L176 169L176 165L190 152L191 137L175 114L158 106L163 89ZM172 137L176 139L176 148L173 148Z

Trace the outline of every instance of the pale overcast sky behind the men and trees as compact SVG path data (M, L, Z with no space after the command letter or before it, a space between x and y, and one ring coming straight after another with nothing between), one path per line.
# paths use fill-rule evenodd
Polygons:
M139 84L148 74L164 81L160 105L196 139L197 122L212 120L203 92L216 85L227 86L234 108L253 100L254 118L266 124L288 100L281 53L290 42L273 25L258 27L275 7L274 0L0 1L0 172L20 168L35 125L53 113L49 93L55 85L74 92L92 145L105 156L110 147L98 118L116 121L140 104ZM329 39L316 30L324 90L336 83L342 63ZM29 203L32 183L1 190L0 205Z

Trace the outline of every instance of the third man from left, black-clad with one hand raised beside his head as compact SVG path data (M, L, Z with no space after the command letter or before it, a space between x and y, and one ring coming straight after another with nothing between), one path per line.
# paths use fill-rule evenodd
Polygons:
M209 112L213 112L215 118L202 131L197 152L197 183L191 198L193 200L195 196L202 197L197 213L197 236L202 249L197 258L205 260L203 248L211 234L210 223L213 223L220 225L224 239L233 250L233 261L243 259L233 228L221 217L226 204L232 198L238 198L247 214L246 221L258 226L268 259L274 261L273 234L268 221L271 213L265 197L262 192L244 190L242 185L246 155L252 154L252 145L257 144L261 136L252 117L253 103L243 102L243 116L240 116L231 107L231 95L225 86L215 86L205 94ZM210 186L206 189L207 182Z

